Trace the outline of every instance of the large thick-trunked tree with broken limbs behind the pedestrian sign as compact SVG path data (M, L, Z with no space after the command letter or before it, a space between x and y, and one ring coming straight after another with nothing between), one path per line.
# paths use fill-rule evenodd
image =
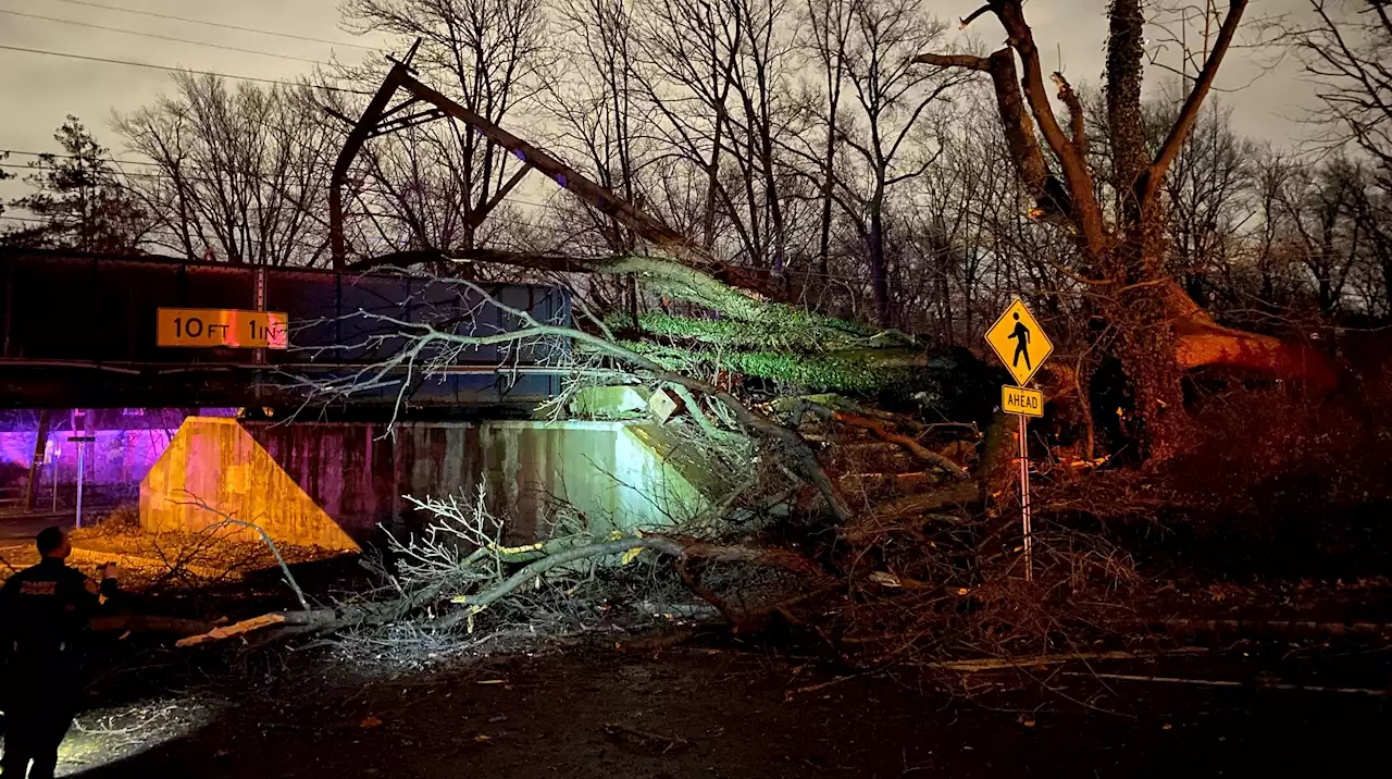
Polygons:
M1218 325L1166 269L1162 184L1200 116L1249 0L1229 0L1183 106L1158 152L1146 146L1141 81L1146 14L1141 0L1107 8L1105 125L1111 170L1089 157L1084 109L1061 72L1052 74L1061 121L1051 100L1034 32L1022 0L990 0L963 25L994 17L1006 45L987 56L923 53L916 61L988 74L1016 171L1036 201L1033 215L1070 231L1079 263L1070 275L1116 334L1112 353L1126 372L1144 424L1147 456L1164 460L1185 438L1183 371L1207 365L1260 371L1283 379L1332 382L1324 355L1300 344ZM1043 137L1043 144L1040 142ZM1111 184L1105 203L1098 184Z

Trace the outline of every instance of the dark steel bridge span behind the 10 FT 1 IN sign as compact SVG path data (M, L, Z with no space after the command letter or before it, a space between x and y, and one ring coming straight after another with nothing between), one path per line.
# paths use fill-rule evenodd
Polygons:
M256 309L259 275L264 309L288 315L291 348L264 350L258 362L255 350L156 343L156 309ZM461 333L518 326L468 287L404 275L0 249L0 407L8 408L294 403L288 375L342 375L401 348L395 326L361 312L406 322L450 318ZM487 290L540 321L571 321L564 290ZM418 373L408 394L425 406L535 404L560 392L547 357L539 347L470 348L445 360L437 379ZM381 386L352 401L381 404L395 394L397 386Z

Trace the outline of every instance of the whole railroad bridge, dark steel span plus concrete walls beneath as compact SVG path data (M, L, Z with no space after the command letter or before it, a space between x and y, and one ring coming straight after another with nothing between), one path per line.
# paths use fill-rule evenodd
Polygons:
M469 348L429 378L419 367L397 371L335 400L333 418L320 408L288 421L242 412L298 407L303 396L287 376L323 380L380 365L402 347L400 322L461 333L519 326L466 286L47 251L0 252L0 471L10 474L0 499L14 513L71 506L79 450L88 489L104 491L107 506L138 495L146 527L214 523L181 503L193 493L285 541L322 546L351 548L379 524L409 520L404 495L483 488L515 538L541 532L558 502L615 527L668 521L704 502L695 486L703 477L671 456L651 421L535 419L537 404L561 390L560 371L544 364L554 353L539 347ZM537 321L571 323L565 290L482 288ZM290 348L161 347L160 308L283 312ZM455 316L440 325L445 309ZM402 382L404 411L395 408Z

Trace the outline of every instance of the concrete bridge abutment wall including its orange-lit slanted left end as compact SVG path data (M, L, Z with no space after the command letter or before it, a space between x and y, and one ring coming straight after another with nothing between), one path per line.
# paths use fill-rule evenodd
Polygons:
M228 431L228 424L241 435ZM582 421L408 422L387 435L384 425L369 424L189 418L142 484L141 517L146 527L199 527L187 507L168 507L181 499L171 488L185 485L205 491L188 486L205 499L217 495L242 507L238 516L284 513L276 527L291 534L287 541L299 542L320 534L333 541L334 532L315 530L324 517L338 532L359 539L379 523L423 521L427 517L413 516L402 495L472 498L479 485L494 514L508 520L514 541L540 537L557 500L574 504L601 531L695 516L709 504L707 496L675 460L654 452L647 428ZM252 495L258 489L267 489L267 496Z

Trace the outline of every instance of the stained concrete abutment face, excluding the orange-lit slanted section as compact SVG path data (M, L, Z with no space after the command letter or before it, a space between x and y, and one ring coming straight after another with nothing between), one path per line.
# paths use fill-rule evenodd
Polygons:
M535 538L548 506L572 503L614 528L685 518L704 498L622 422L244 422L252 436L352 532L401 517L419 499L468 496L483 485L514 538Z

